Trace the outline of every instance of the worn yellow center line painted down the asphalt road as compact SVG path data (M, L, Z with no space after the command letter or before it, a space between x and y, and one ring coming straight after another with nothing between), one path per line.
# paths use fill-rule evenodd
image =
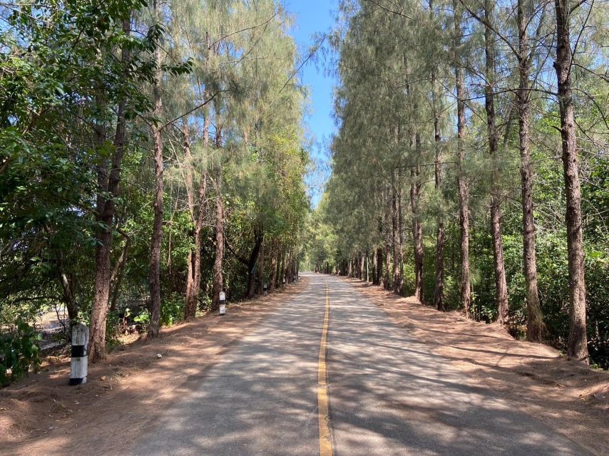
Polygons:
M326 314L322 341L319 343L319 366L317 368L317 410L319 412L319 456L332 456L332 436L330 434L330 415L328 399L328 373L326 369L326 343L330 319L329 284L326 281Z

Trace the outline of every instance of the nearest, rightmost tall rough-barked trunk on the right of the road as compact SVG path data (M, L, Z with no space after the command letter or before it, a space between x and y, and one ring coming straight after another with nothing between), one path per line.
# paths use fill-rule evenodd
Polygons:
M581 214L581 188L575 108L571 95L570 1L555 0L556 6L556 78L558 108L563 140L563 174L567 199L567 250L569 262L569 341L568 356L589 363L585 315L585 271Z

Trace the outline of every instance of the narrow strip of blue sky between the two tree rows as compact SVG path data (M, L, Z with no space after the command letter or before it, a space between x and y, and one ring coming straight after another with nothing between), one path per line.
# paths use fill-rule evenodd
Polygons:
M292 26L300 54L306 57L309 48L314 43L313 36L326 33L334 24L334 11L337 0L285 0L285 7L295 15ZM321 57L321 56L319 56ZM309 113L305 118L308 130L314 140L312 157L319 164L321 173L309 175L307 183L310 186L309 195L314 206L319 202L321 183L327 178L327 140L334 132L332 118L332 87L334 78L327 76L322 58L309 61L300 71L300 81L309 88Z

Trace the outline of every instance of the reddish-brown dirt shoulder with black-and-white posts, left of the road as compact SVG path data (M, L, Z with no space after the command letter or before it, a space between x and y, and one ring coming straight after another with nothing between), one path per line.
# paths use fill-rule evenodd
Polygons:
M138 437L222 354L252 331L307 279L265 298L232 304L164 328L89 366L86 385L68 386L69 358L49 358L41 373L0 390L1 455L123 455ZM161 358L158 357L160 354Z

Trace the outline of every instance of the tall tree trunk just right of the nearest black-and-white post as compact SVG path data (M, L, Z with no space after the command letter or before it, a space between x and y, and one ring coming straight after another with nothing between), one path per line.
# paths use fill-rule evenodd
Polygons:
M123 21L123 32L131 34L131 19ZM121 61L127 66L131 60L128 48L123 49ZM126 70L123 72L126 77ZM115 212L115 198L118 197L118 185L121 182L121 164L123 162L123 151L126 137L126 99L118 102L116 133L114 135L114 152L112 156L111 170L108 173L106 185L100 189L108 197L98 197L101 209L98 217L104 228L98 237L95 258L95 278L93 279L93 303L91 306L91 329L89 332L88 356L91 363L106 358L106 320L108 319L108 305L110 299L111 266L110 254L112 244L112 229Z

